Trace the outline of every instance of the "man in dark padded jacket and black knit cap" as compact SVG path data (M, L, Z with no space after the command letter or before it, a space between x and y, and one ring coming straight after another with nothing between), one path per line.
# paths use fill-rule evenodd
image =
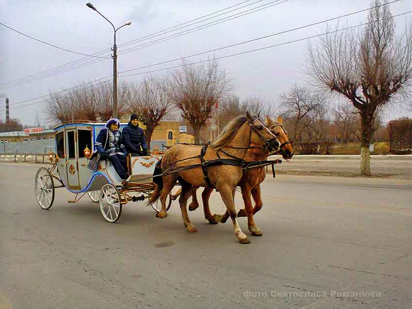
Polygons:
M130 121L123 128L123 143L132 156L147 155L146 138L143 129L139 127L138 117L136 114L130 116Z

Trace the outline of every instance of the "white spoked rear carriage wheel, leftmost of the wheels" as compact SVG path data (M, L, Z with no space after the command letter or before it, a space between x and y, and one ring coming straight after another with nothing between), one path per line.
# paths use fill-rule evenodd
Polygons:
M51 173L46 168L37 170L34 178L34 192L42 209L49 209L54 201L54 182Z

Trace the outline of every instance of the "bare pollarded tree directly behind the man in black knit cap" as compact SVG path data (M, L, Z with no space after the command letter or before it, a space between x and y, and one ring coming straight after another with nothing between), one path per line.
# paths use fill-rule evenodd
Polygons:
M150 150L153 130L171 110L171 83L166 77L145 77L138 85L131 87L127 96L130 111L137 114L146 126L144 135Z

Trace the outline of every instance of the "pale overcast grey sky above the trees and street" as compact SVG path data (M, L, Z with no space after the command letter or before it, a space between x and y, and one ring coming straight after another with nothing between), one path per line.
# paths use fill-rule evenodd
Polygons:
M122 80L137 82L147 74L144 72L175 66L180 61L123 74L122 72L349 14L368 8L371 1L93 0L92 3L101 14L111 20L115 27L119 27L129 20L132 22L130 26L120 29L116 35L119 54L117 70L119 72L119 82ZM93 82L101 77L109 76L103 80L108 80L111 83L110 76L113 68L110 48L113 44L113 29L102 16L85 4L86 1L81 0L0 0L0 23L36 39L71 51L91 55L106 50L98 56L108 57L106 59L86 58L82 55L69 53L32 40L0 25L1 120L5 120L5 97L10 99L11 118L18 118L22 124L34 124L35 115L38 113L42 122L45 123L47 116L45 97L43 96L82 83ZM411 11L411 0L400 0L389 5L393 15ZM233 7L230 9L204 17L203 19L213 17L206 21L197 19L176 27L181 29L174 28L169 30L169 33L163 32L162 35L150 36L158 31L163 31L231 6ZM251 9L261 10L240 16L253 12L254 10L247 11ZM229 12L231 10L234 11ZM226 14L216 16L222 13ZM206 25L207 23L218 22L219 19L231 15L238 18L212 26ZM339 25L348 26L358 25L366 21L366 16L367 12L363 12L248 44L195 56L188 60L197 62L208 58L219 58L247 50L282 44L321 34L325 32L327 26L334 28L338 23ZM410 20L410 14L396 17L397 34L405 29L405 23L410 23ZM202 22L189 25L197 21ZM170 36L177 35L179 32L189 32L188 30L195 30L195 27L200 26L210 27L170 38ZM161 39L168 40L164 42L156 41ZM133 40L135 41L133 42ZM151 43L149 44L149 42ZM311 39L310 42L315 44L317 39ZM128 45L122 46L125 43ZM146 46L143 44L146 44ZM269 98L277 102L279 101L279 95L285 93L292 84L312 82L303 72L307 45L308 40L303 40L228 57L219 60L219 66L232 79L233 93L241 99L253 96L264 99ZM137 48L127 50L132 47ZM122 54L122 51L124 54ZM91 61L94 62L79 67ZM46 71L51 69L53 71ZM46 72L41 73L43 71ZM171 70L163 70L159 74L170 72ZM133 73L142 74L122 77ZM41 98L36 99L38 97ZM405 115L405 111L402 109L387 109L384 111L383 120L388 121L403 115Z

